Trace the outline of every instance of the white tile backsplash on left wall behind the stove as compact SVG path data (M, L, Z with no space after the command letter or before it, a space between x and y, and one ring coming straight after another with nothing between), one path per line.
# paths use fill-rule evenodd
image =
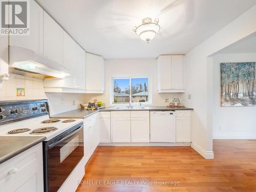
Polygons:
M85 94L79 93L45 93L44 82L39 78L9 73L9 80L2 82L0 101L48 99L50 115L81 108L85 103ZM24 88L25 96L16 96L16 89Z

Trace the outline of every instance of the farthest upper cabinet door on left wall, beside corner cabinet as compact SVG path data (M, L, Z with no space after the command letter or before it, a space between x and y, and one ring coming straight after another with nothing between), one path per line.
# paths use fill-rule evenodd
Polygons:
M86 52L76 45L76 70L75 70L76 89L86 90Z

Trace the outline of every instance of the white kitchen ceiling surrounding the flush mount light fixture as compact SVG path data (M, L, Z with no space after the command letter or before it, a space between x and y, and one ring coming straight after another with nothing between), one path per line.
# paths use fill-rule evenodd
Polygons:
M37 0L88 52L104 58L184 54L216 33L256 0ZM146 44L132 30L159 18L159 34Z

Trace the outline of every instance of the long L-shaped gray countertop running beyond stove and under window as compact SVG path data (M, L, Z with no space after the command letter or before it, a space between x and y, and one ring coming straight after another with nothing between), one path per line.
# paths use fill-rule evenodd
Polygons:
M84 108L67 111L63 113L59 113L56 115L51 115L51 118L73 118L73 119L83 119L86 118L94 113L99 111L177 111L177 110L193 110L191 108L167 108L166 106L145 106L144 108L134 107L134 108L124 108L124 107L106 107L101 108L99 110L88 111Z

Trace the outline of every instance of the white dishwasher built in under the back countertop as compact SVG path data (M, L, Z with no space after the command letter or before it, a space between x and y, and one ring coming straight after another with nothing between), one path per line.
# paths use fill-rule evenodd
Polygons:
M150 112L150 142L176 142L176 113Z

